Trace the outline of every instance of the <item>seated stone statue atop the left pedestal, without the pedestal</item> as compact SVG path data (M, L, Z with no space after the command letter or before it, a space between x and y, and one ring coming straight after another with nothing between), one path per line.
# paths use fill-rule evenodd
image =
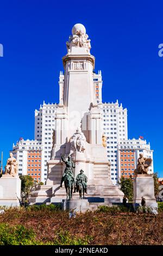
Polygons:
M10 157L7 160L7 164L5 166L5 174L10 174L13 177L17 175L17 161L12 153L10 153Z

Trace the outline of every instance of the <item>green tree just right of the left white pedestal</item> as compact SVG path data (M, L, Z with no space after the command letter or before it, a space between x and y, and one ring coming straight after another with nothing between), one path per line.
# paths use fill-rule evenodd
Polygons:
M31 176L29 175L20 175L21 179L21 192L24 194L26 199L29 198L30 193L36 188L38 185L43 185L42 182L35 181Z

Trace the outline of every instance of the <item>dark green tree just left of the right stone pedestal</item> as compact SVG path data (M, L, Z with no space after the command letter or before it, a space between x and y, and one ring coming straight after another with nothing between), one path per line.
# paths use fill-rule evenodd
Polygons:
M120 190L124 193L124 196L128 198L128 202L133 202L134 190L133 190L133 179L131 176L129 178L124 178L121 176L120 181Z

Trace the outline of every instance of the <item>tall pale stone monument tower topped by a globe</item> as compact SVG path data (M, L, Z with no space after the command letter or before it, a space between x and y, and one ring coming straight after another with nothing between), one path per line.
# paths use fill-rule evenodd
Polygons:
M82 24L74 25L66 46L67 54L62 58L64 86L60 85L59 108L55 113L48 179L46 185L39 186L33 193L30 203L55 203L66 198L65 188L60 187L65 170L61 155L71 156L75 162L75 178L81 169L84 170L86 198L90 202L122 202L123 193L110 179L110 163L103 142L102 110L97 105L93 83L95 57L90 54L90 39ZM79 194L73 193L73 198L79 198Z

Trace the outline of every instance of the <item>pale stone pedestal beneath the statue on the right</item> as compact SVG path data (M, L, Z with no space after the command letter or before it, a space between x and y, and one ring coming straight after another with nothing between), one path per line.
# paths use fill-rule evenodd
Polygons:
M134 208L141 206L142 197L146 199L146 206L158 208L154 197L154 180L150 174L137 174L134 179Z

